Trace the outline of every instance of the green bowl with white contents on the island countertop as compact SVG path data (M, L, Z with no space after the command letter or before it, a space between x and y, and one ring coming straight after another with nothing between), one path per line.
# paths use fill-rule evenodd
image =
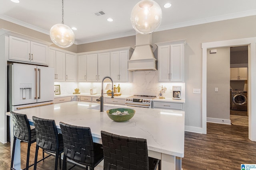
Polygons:
M115 113L116 111L124 112L128 111L128 115L112 115L112 113ZM134 109L128 109L128 108L116 108L116 109L109 109L107 110L107 115L110 119L113 121L128 121L130 120L135 114Z

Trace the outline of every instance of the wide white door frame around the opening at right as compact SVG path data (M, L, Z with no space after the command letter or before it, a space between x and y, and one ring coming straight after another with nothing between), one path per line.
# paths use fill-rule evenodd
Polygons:
M214 41L202 43L202 133L207 133L206 126L206 86L207 86L207 49L219 47L231 47L248 45L248 123L249 123L249 139L256 141L256 37L231 39L224 41ZM254 103L254 105L253 105Z

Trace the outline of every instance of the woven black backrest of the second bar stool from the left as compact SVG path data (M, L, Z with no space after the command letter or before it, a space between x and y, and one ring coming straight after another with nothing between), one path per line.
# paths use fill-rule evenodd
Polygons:
M59 141L55 121L35 116L32 119L36 128L36 145L48 152L56 153Z

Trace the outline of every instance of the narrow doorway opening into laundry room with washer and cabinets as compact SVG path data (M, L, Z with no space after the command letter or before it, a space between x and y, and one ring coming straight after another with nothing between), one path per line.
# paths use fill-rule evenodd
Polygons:
M248 45L230 47L230 121L248 126Z

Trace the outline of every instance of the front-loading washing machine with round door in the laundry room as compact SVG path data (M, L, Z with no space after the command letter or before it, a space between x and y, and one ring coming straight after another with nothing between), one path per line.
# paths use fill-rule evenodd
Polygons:
M232 110L247 111L247 92L232 91Z

